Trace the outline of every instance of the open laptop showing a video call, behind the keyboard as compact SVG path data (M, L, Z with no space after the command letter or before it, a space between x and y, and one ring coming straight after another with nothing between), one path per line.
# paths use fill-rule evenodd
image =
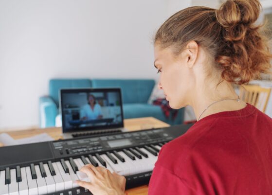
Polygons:
M126 132L121 89L60 89L64 139Z

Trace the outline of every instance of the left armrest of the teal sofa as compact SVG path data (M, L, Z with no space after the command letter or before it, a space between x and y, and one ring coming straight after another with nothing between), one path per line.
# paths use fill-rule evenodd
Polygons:
M39 126L40 128L55 126L57 107L49 96L39 98Z

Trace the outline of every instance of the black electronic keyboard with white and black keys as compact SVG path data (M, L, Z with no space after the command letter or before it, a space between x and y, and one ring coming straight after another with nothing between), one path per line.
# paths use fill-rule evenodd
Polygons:
M126 189L148 184L163 144L192 124L0 147L0 195L92 195L85 164L126 177Z

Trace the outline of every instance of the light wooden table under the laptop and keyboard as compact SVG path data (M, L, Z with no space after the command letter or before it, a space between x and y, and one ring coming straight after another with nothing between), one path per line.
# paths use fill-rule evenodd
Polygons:
M153 117L145 117L145 118L136 118L136 119L125 119L124 120L125 128L129 131L137 131L142 129L149 129L149 128L160 128L160 127L168 127L169 124L166 124L158 119ZM55 140L62 139L62 130L61 127L52 127L52 128L32 128L27 130L20 130L20 131L4 131L1 130L0 132L5 132L9 134L13 139L21 139L27 138L31 136L38 135L40 133L47 133ZM0 143L1 146L1 143ZM137 188L127 190L128 195L147 195L148 186L140 186Z

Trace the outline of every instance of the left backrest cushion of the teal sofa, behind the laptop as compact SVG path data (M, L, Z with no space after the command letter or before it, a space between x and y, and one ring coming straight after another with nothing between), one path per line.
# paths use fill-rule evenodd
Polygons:
M49 95L53 98L58 107L59 89L64 88L91 88L90 79L51 79L49 81Z

